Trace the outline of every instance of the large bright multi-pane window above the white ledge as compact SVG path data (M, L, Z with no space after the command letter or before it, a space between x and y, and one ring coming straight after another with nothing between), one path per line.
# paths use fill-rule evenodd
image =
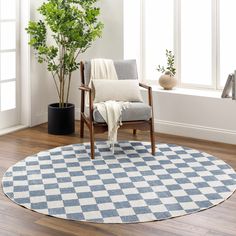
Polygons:
M236 70L235 0L140 0L140 43L126 43L132 31L124 32L125 50L132 44L140 51L142 78L159 78L158 64L165 65L165 49L175 54L177 79L182 87L222 89L229 73ZM132 12L136 1L125 1ZM131 3L132 2L132 3ZM140 11L139 13L137 13ZM127 20L126 20L127 19ZM125 18L124 25L128 22ZM140 22L140 23L139 23ZM129 26L132 28L132 26ZM136 50L134 50L136 47Z

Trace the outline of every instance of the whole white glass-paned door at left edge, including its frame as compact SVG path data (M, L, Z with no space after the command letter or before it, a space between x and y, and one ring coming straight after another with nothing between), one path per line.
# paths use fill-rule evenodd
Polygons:
M0 130L20 122L19 2L0 0Z

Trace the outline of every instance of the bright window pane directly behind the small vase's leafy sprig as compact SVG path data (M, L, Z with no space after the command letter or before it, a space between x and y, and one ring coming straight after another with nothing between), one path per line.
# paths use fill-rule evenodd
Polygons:
M143 27L144 78L157 79L157 65L166 65L165 49L173 50L173 0L145 0Z

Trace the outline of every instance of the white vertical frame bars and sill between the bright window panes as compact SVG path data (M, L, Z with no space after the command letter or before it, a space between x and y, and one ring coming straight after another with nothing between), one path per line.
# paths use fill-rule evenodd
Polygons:
M141 77L145 78L145 1L141 0ZM197 0L196 0L197 1ZM173 0L173 14L174 14L174 37L173 37L173 51L175 54L175 65L176 65L176 78L177 86L181 88L191 89L208 89L208 90L222 90L223 87L220 85L220 0L211 0L211 35L212 35L212 78L211 85L201 85L193 83L181 82L181 0ZM157 84L155 79L145 80L149 84Z

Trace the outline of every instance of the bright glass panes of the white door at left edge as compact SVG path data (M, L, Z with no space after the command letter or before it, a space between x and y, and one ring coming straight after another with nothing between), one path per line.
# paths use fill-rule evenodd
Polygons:
M16 107L16 0L0 1L0 111Z

